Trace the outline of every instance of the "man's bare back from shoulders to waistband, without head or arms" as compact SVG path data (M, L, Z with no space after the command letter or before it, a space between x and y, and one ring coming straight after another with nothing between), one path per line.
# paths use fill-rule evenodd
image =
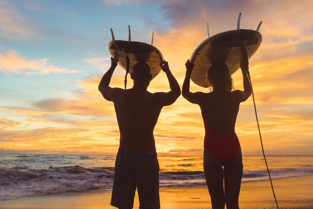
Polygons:
M114 101L116 118L120 129L120 147L125 130L125 90ZM145 89L126 90L126 134L124 148L130 150L156 151L153 130L164 106L160 93L150 93Z

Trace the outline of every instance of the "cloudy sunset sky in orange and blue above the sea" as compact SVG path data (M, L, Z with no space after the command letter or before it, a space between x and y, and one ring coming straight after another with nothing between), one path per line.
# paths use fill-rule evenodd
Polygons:
M249 60L265 154L313 150L313 1L94 0L0 1L0 153L116 153L112 102L98 91L110 67L108 43L151 43L182 87L185 62L210 35L256 29L262 44ZM116 67L110 85L123 88ZM241 71L234 88L243 90ZM132 81L128 82L132 87ZM164 72L150 92L169 91ZM209 92L191 82L191 91ZM261 154L252 96L241 103L235 131L244 155ZM202 154L198 105L182 96L162 109L154 129L160 154Z

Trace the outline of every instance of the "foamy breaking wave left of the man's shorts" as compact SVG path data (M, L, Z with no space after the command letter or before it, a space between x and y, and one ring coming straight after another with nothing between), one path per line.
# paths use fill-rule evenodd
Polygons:
M111 167L50 166L48 169L0 169L0 200L111 188L113 179L114 168Z

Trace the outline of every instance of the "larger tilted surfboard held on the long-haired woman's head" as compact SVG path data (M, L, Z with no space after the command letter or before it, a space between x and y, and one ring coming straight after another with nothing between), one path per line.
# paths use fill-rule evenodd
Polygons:
M214 62L224 62L231 74L236 72L240 67L241 46L244 40L250 59L262 42L262 35L256 30L229 30L204 40L190 57L190 62L194 63L191 73L193 83L204 88L209 87L207 74Z

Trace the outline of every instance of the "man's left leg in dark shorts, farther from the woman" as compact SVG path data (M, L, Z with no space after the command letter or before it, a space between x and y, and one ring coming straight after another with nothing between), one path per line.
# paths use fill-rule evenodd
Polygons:
M122 198L121 198L121 179L120 179L121 163L122 163ZM134 169L135 169L134 156L127 153L127 151L124 150L123 160L121 162L121 151L119 150L115 161L115 173L110 204L111 206L120 209L133 208L136 191Z

